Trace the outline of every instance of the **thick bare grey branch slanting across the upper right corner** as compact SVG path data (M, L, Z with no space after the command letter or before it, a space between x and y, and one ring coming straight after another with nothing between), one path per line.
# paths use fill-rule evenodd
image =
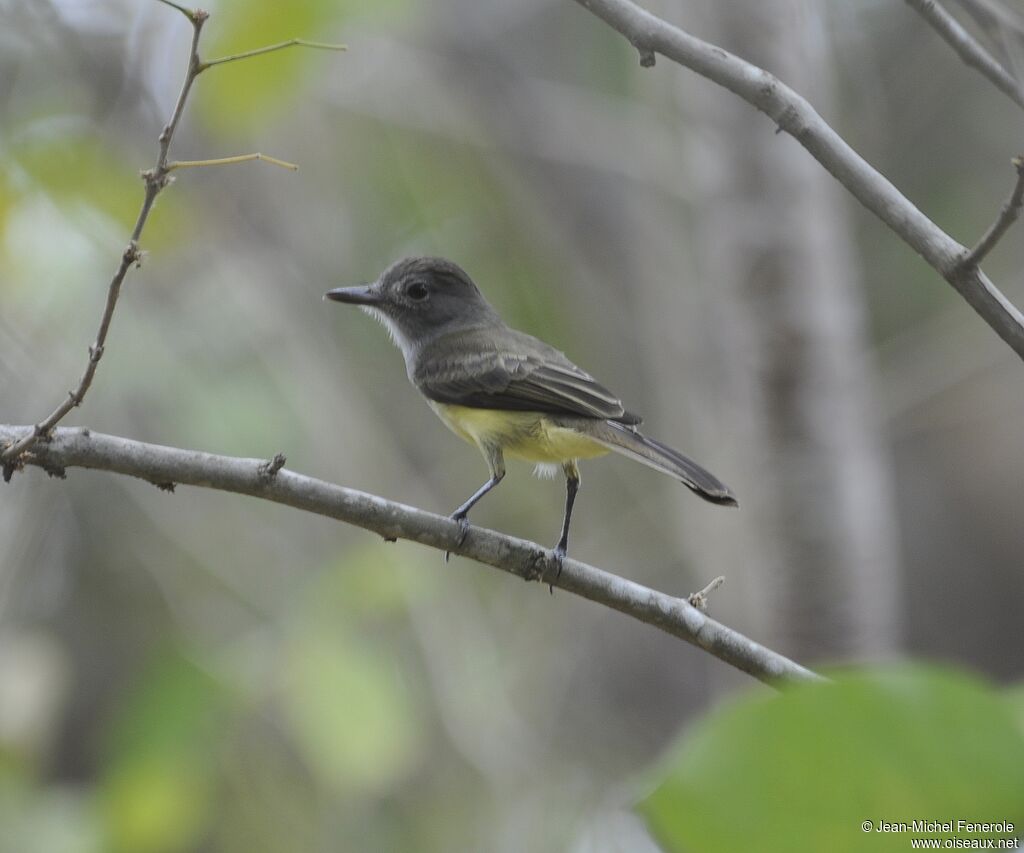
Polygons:
M860 157L814 110L774 75L666 23L631 0L575 0L624 35L652 65L655 53L723 86L771 118L802 144L864 207L918 252L1024 358L1024 314L969 254Z

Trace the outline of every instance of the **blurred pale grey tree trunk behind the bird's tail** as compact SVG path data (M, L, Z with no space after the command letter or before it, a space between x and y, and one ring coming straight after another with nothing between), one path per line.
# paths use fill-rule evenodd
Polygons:
M805 0L697 0L699 34L777 74L826 117L827 34ZM696 5L696 4L695 4ZM897 546L887 453L865 358L864 307L849 202L795 140L702 81L707 144L694 156L701 201L694 329L707 436L728 437L742 523L716 539L729 588L771 645L805 662L898 644ZM724 333L723 333L724 330ZM714 427L714 430L711 429ZM724 524L727 522L716 523ZM709 538L703 536L707 541ZM723 560L723 552L726 559ZM725 598L725 596L723 596Z

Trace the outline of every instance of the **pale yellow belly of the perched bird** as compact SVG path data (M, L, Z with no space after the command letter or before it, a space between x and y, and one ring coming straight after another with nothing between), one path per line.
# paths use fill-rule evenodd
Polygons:
M574 429L557 426L538 412L471 409L430 401L457 435L480 447L497 444L507 456L528 462L562 463L604 456L608 449Z

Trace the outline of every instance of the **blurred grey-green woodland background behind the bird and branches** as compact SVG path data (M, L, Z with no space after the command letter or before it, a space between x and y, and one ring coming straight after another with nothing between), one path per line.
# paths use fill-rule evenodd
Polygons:
M571 2L210 0L197 82L96 382L66 423L268 458L449 512L485 478L381 329L321 301L461 263L727 512L585 465L573 556L804 664L1024 671L1024 369L790 137ZM972 244L1024 116L881 0L651 2L806 95ZM0 0L0 420L80 376L190 27ZM969 26L971 22L965 18ZM1011 58L1019 42L1001 40ZM1016 52L1015 52L1016 51ZM986 270L1024 305L1024 242ZM550 545L524 464L476 523ZM647 769L750 679L625 616L258 501L38 470L0 488L0 851L652 850Z

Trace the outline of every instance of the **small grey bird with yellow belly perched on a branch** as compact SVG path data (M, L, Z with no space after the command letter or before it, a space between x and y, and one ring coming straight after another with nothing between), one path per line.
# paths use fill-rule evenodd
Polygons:
M609 451L676 477L706 501L737 506L728 486L691 459L637 428L640 418L590 374L544 341L505 325L473 281L443 258L397 261L370 285L327 299L358 305L387 328L413 385L458 435L483 454L490 477L452 518L505 476L505 456L560 465L565 515L555 555L568 546L581 459Z

